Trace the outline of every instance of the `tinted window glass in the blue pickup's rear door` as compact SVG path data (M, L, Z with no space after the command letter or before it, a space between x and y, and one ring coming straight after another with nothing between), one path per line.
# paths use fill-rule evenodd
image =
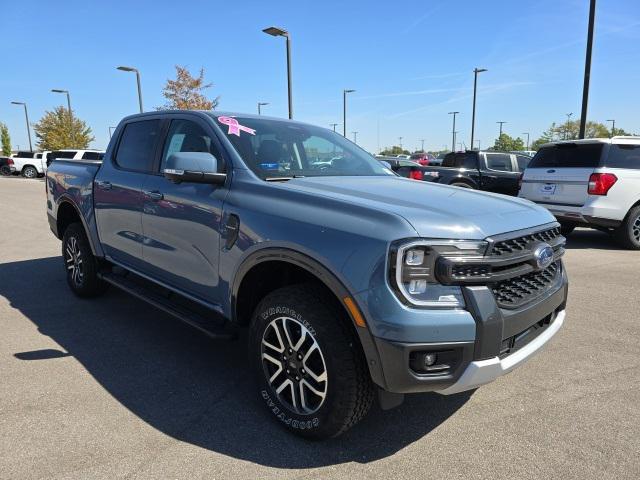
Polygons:
M127 170L151 171L159 136L160 120L128 123L122 132L116 153L116 164Z

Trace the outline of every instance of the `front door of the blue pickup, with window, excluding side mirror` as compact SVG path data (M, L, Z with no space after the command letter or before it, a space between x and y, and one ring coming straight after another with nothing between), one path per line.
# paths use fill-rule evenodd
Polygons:
M145 269L153 277L218 303L218 261L224 185L174 183L162 172L175 152L209 152L224 172L218 140L206 121L188 114L171 121L159 167L144 186L142 229Z

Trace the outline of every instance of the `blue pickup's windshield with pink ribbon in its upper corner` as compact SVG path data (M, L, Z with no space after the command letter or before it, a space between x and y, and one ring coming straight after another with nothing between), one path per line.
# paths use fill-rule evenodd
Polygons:
M331 130L290 121L211 116L263 180L393 175L369 153Z

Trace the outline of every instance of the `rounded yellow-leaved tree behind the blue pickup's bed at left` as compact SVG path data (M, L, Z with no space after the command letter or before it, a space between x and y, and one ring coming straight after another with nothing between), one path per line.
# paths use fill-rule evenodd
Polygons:
M60 150L63 148L88 148L95 140L91 128L73 115L69 118L66 107L56 107L52 112L46 111L38 123L34 124L36 145L40 150Z

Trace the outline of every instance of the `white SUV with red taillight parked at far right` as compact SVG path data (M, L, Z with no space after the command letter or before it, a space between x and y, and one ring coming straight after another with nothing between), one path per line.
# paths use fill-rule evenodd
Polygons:
M519 196L548 208L565 235L592 227L640 249L640 137L545 144L524 171Z

